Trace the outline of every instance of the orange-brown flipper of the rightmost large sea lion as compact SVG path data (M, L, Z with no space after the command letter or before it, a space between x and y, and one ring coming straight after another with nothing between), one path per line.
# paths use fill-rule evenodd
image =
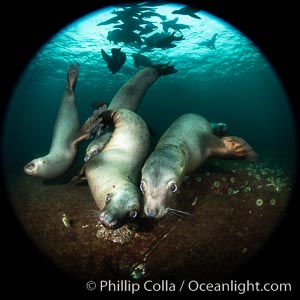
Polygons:
M242 138L236 136L225 136L219 139L213 148L213 156L223 159L239 159L247 162L259 162L258 154Z

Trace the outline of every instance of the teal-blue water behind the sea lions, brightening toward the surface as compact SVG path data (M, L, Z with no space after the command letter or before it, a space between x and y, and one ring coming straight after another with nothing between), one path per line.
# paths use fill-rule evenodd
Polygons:
M171 20L176 17L171 12L179 7L159 6L156 12ZM116 74L111 74L101 58L101 49L109 52L114 46L106 38L114 24L97 24L114 16L111 13L114 9L97 11L70 24L29 63L16 84L6 113L5 172L22 170L33 158L48 153L70 63L80 63L76 97L82 122L92 113L92 102L109 102L139 70L131 57L139 51L134 46L118 45L127 54L127 61ZM205 11L197 15L201 19L177 15L177 23L190 28L182 30L185 39L175 42L175 48L143 53L153 62L170 61L179 71L159 78L139 108L138 113L155 134L153 143L177 117L193 112L211 122L226 122L229 135L243 137L261 155L293 165L296 160L293 114L272 66L237 29ZM158 26L157 32L162 31L159 18L148 20ZM215 33L218 34L216 49L201 44ZM84 147L85 144L81 152Z

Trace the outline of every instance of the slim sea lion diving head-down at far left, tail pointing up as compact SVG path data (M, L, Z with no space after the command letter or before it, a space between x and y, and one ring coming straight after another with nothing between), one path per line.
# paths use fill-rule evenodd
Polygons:
M49 179L60 177L70 168L76 157L79 143L76 135L80 128L75 99L78 72L79 64L71 64L67 72L66 90L54 126L50 152L24 166L28 175Z

